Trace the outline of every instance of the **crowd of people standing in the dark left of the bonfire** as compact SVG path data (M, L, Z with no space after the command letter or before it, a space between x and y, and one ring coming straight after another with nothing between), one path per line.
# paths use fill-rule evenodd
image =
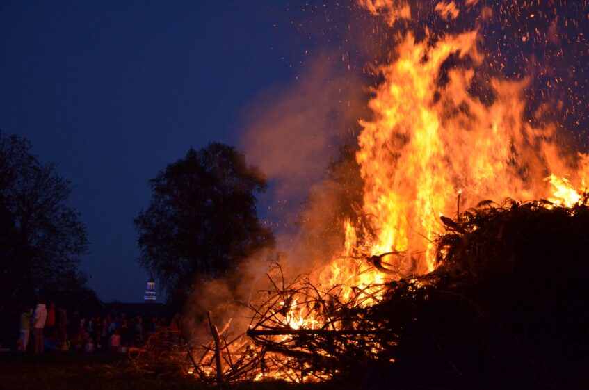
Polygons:
M178 315L168 323L166 317L134 316L111 312L85 316L71 314L50 302L39 300L37 306L25 307L20 313L20 336L17 349L21 352L79 351L127 352L129 347L143 346L150 334L160 327L179 326Z

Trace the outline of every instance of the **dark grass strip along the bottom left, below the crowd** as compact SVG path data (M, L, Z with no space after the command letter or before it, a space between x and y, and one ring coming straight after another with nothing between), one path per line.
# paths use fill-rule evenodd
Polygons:
M293 385L283 382L244 382L222 387L197 382L184 375L157 375L137 371L126 355L47 353L45 356L0 355L1 390L327 390L325 384Z

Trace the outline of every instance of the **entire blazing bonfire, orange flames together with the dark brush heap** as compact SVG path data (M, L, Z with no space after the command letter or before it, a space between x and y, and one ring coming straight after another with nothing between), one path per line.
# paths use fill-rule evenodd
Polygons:
M410 17L402 1L360 3L390 24ZM440 15L458 16L453 1L439 4ZM547 361L533 347L539 338L530 336L536 331L529 318L542 319L522 309L526 320L512 323L506 311L516 310L515 303L498 309L497 299L524 304L510 294L551 289L547 270L566 258L554 247L567 254L572 270L585 270L589 157L557 143L556 125L526 120L525 79L490 77L492 99L473 92L485 61L483 40L477 30L426 32L419 40L407 33L393 60L378 67L373 115L360 120L355 159L363 199L350 204L354 217L341 221L341 250L290 280L273 263L270 287L245 303L248 329L232 330L209 316L211 339L199 345L163 330L139 354L138 366L172 364L205 382L358 375L375 386L393 372L399 383L412 383L410 375L421 369L443 388L474 386L481 373L474 366L504 372L498 367L512 364L514 383L526 386L522 377L533 377L559 387L554 371L562 367ZM533 267L538 271L530 273ZM539 296L559 302L569 296L556 286L553 295ZM547 302L551 314L553 303ZM446 322L444 310L460 326ZM418 330L431 336L419 339Z

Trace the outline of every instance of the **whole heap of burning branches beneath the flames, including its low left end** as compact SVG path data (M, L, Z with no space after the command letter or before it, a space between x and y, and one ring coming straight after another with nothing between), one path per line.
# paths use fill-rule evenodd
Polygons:
M554 326L570 315L563 310L589 314L572 295L579 289L587 293L588 204L588 195L573 207L548 201L482 202L446 224L446 234L436 241L439 266L433 273L355 287L351 293L343 286L324 289L308 275L285 284L277 265L275 277L269 277L272 289L250 305L252 322L245 334L229 337L229 327L219 332L209 316L209 343L184 343L163 330L152 336L143 355L154 359L157 354L157 361L168 365L175 361L177 368L205 382L323 381L380 370L387 380L393 375L401 382L418 374L435 379L434 373L442 372L456 384L476 382L487 370L473 367L472 361L485 361L497 370L495 375L515 375L493 363L498 357L535 376L561 375L564 363L534 350L539 339L533 334L544 329L535 321L553 316L544 322ZM564 259L583 271L568 280L568 270L555 273L554 266ZM529 292L538 297L525 293L531 286ZM548 297L562 294L572 309L549 303ZM503 302L506 296L509 302ZM526 304L537 311L513 316L514 309ZM544 346L558 353L567 334L552 337ZM486 347L480 348L481 343ZM567 367L574 364L565 356L558 359L565 359ZM526 372L518 372L517 380L531 380Z

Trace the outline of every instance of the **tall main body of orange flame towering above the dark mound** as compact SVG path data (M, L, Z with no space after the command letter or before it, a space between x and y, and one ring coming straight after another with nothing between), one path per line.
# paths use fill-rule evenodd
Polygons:
M414 252L420 260L413 272L433 270L438 216L456 213L459 189L465 207L485 199L529 200L549 194L543 179L552 175L554 200L579 200L571 195L579 196L582 171L554 140L555 127L524 120L526 81L492 80L491 104L469 92L483 61L477 42L476 31L433 46L408 35L394 63L380 68L385 81L373 90L373 119L361 122L364 212L377 232L369 246L373 254ZM454 67L442 83L451 56L468 56L473 65ZM565 174L572 181L558 179Z

